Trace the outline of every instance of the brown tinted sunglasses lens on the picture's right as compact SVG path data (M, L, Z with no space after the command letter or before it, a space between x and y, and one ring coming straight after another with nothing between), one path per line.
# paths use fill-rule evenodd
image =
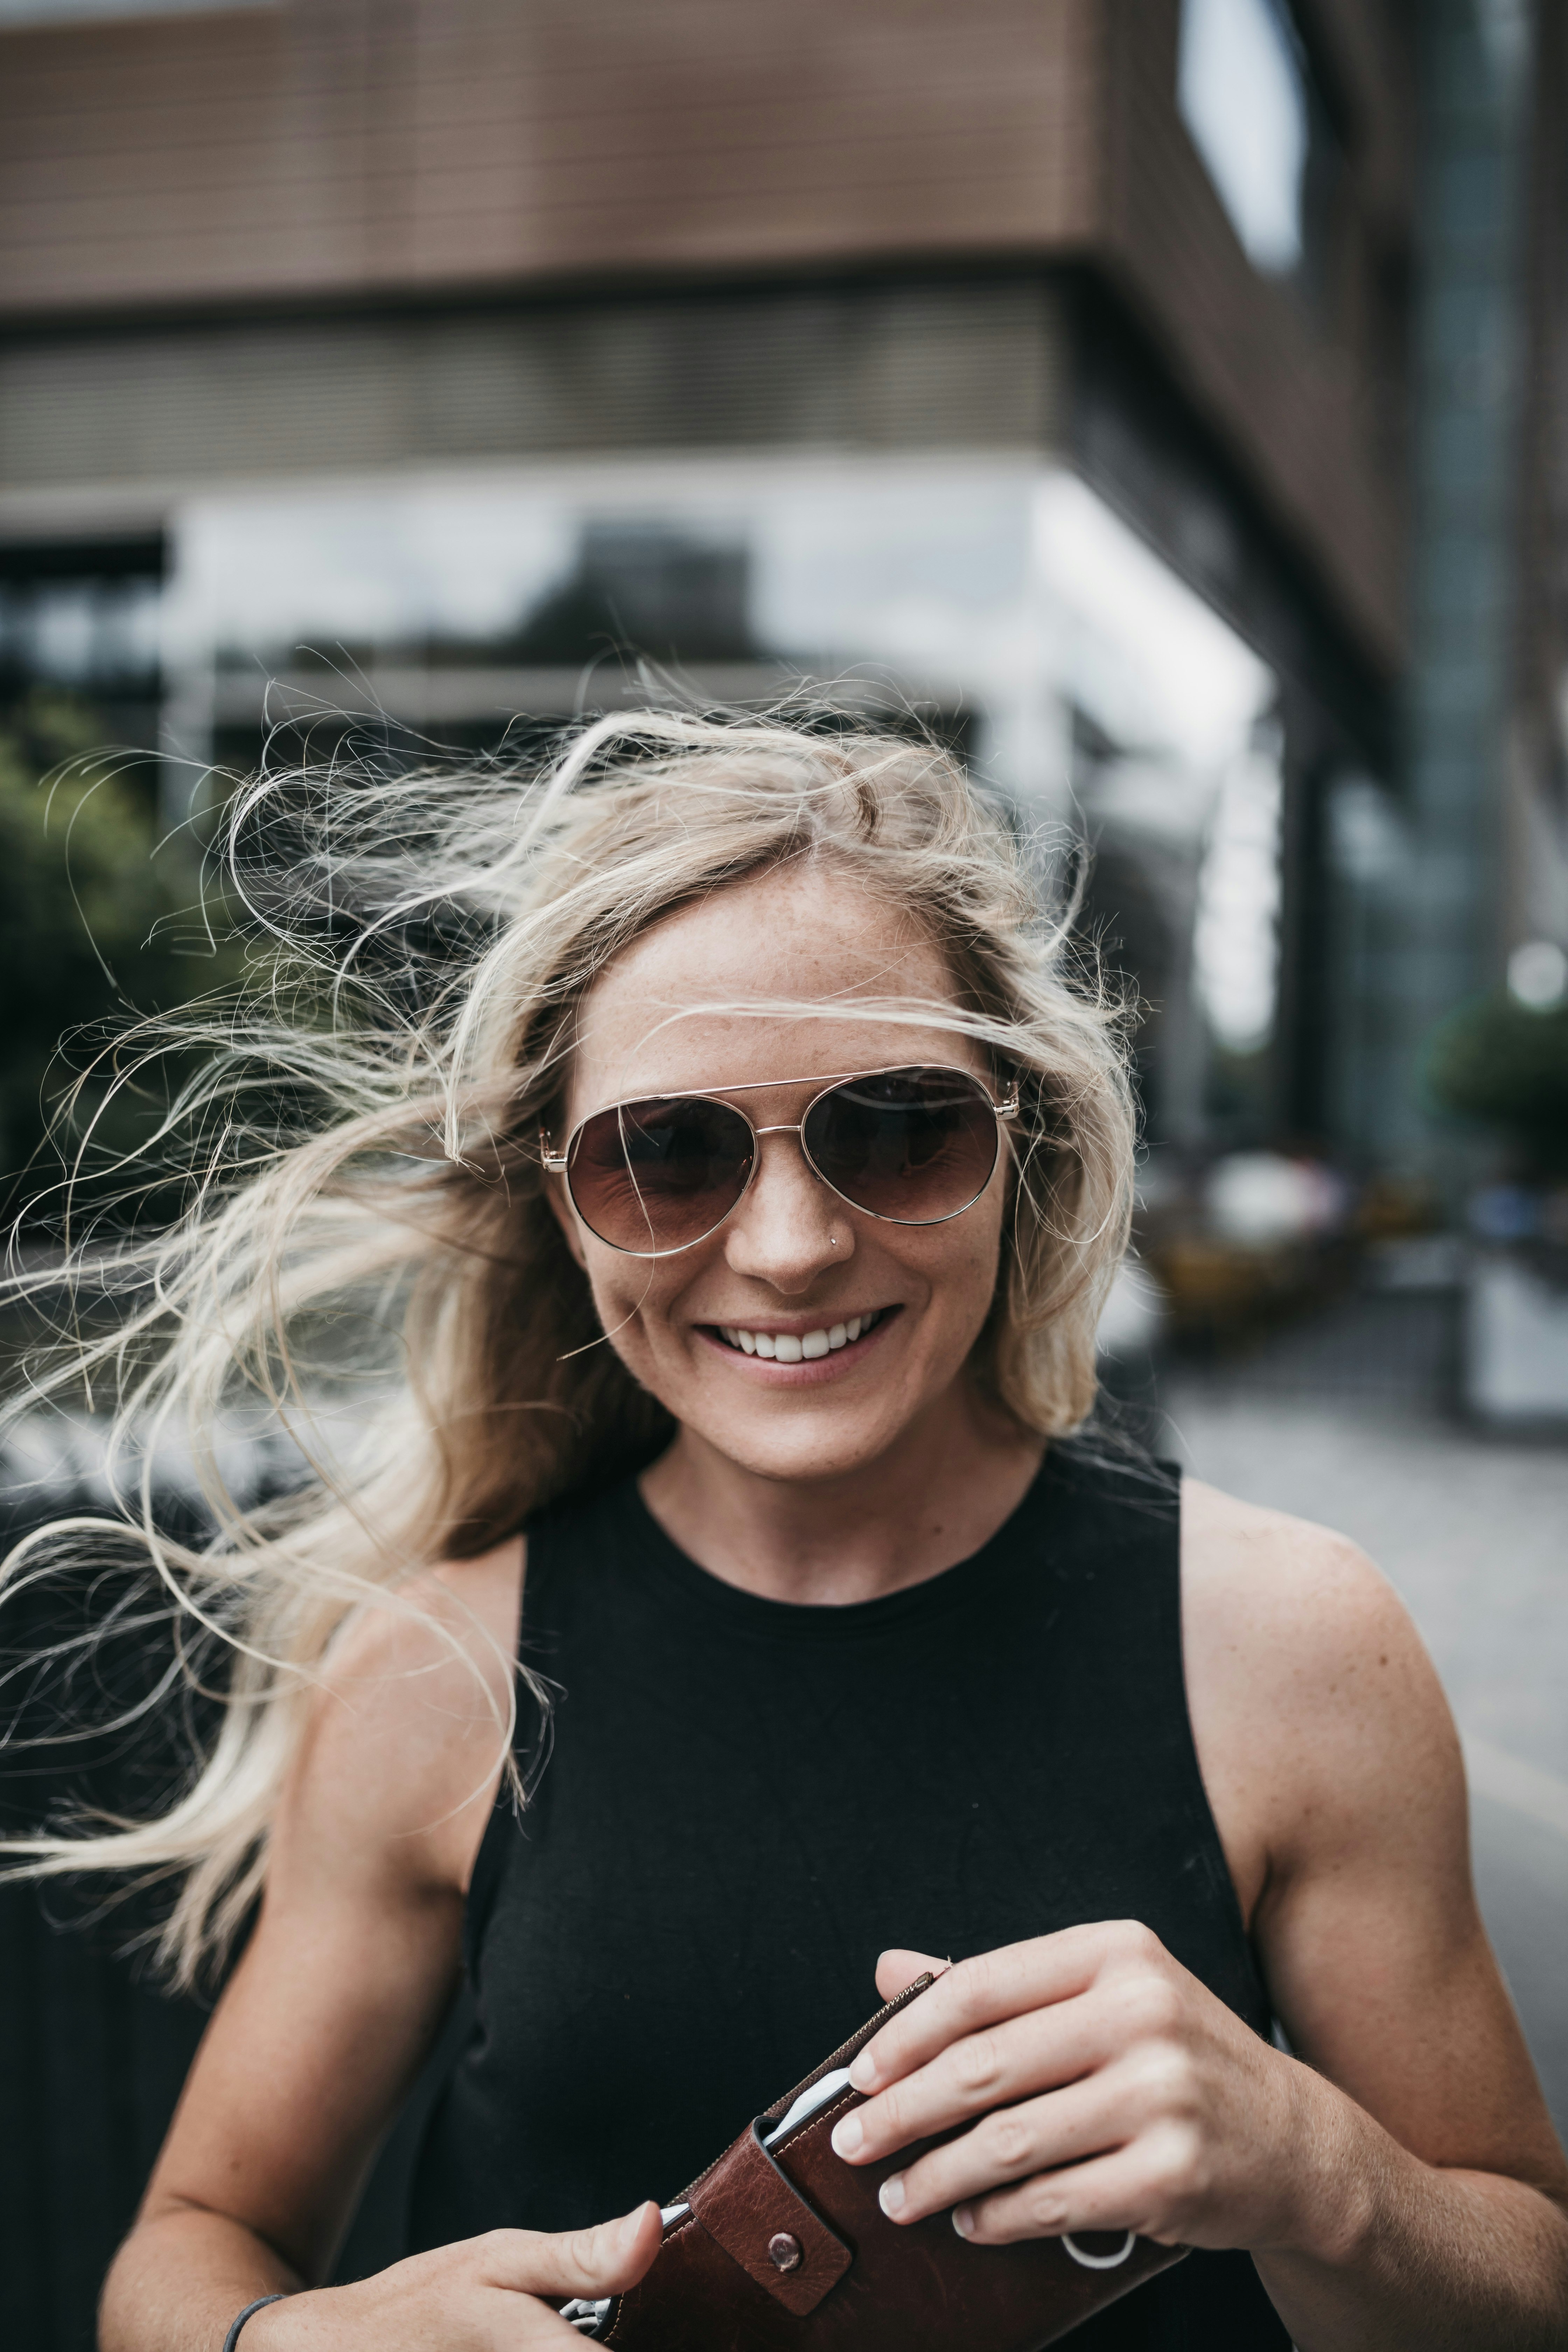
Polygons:
M835 1192L893 1218L936 1225L969 1209L997 1164L997 1112L961 1070L851 1077L809 1112L802 1136Z

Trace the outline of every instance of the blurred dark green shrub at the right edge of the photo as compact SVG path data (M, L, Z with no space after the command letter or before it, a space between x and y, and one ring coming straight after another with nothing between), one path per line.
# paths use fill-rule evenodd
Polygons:
M1443 1110L1505 1134L1519 1174L1568 1176L1568 1004L1537 1011L1507 990L1462 1004L1432 1040L1427 1087Z

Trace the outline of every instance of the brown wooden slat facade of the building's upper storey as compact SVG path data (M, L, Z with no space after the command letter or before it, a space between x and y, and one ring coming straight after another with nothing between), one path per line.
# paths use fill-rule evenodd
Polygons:
M275 0L0 35L0 327L1081 261L1387 670L1368 287L1408 132L1382 9L1309 14L1352 153L1328 315L1225 221L1178 0Z

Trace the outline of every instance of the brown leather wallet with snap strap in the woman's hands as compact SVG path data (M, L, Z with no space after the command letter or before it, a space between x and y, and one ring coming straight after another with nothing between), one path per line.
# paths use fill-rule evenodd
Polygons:
M1131 2232L971 2246L947 2213L903 2227L886 2218L886 2176L966 2126L882 2166L844 2164L830 2136L865 2105L842 2082L851 2058L931 1983L922 1976L879 2009L665 2206L637 2286L567 2303L562 2319L625 2352L1039 2352L1178 2263L1185 2246Z

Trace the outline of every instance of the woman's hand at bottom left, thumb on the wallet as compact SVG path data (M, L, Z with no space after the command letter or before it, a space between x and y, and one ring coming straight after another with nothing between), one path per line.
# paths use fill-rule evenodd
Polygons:
M635 2286L658 2253L658 2206L595 2230L491 2230L409 2256L374 2279L284 2296L247 2319L240 2352L527 2352L581 2345L550 2300Z

